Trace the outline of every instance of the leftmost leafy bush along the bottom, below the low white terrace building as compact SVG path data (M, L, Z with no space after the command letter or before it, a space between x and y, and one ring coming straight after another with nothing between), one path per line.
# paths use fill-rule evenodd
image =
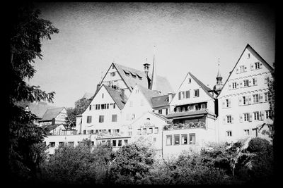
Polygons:
M108 176L112 148L107 145L91 148L90 140L78 146L60 146L42 163L42 182L56 184L102 184Z

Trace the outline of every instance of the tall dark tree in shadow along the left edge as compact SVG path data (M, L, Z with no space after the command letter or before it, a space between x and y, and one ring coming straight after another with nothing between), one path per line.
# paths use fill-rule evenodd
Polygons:
M42 58L41 40L51 39L59 30L49 20L39 18L40 11L32 4L14 5L11 18L10 61L8 63L8 164L14 180L35 178L40 161L45 130L33 125L35 115L16 106L18 101L52 102L54 92L46 93L39 86L25 82L35 74L32 63Z

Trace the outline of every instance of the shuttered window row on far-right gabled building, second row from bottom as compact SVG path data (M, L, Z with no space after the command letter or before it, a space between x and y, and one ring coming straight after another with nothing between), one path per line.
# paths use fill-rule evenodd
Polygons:
M272 114L270 110L267 111L254 111L252 113L241 113L239 121L242 122L252 122L253 120L264 120L271 119ZM233 115L226 115L223 118L224 124L234 123Z

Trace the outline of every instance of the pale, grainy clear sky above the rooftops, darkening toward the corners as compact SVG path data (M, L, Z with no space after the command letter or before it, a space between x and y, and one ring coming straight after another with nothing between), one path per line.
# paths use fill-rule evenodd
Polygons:
M111 63L144 70L153 62L174 92L188 72L209 87L218 62L223 82L247 44L275 62L275 12L267 4L37 3L59 34L42 40L28 84L55 92L52 106L73 107ZM154 46L156 46L154 50Z

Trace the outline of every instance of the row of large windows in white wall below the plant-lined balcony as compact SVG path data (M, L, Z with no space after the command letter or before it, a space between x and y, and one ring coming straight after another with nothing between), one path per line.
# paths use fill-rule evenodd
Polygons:
M181 139L180 139L181 138ZM195 133L189 134L189 142L187 142L187 134L166 135L166 146L195 144Z

